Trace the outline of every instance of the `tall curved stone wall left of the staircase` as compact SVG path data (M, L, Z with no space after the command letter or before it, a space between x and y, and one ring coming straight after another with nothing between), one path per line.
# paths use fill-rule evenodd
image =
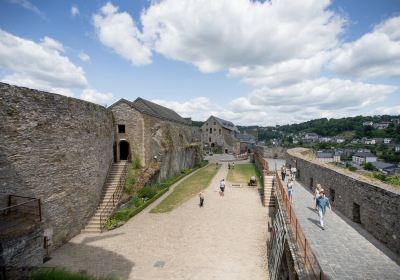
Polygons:
M0 207L40 198L54 247L93 215L113 158L112 114L102 106L0 83Z

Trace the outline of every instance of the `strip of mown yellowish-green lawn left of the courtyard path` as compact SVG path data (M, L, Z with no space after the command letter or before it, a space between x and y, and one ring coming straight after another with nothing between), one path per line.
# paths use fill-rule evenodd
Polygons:
M210 184L215 174L217 174L220 167L220 165L218 168L216 168L215 165L209 165L199 170L196 174L193 174L177 185L174 191L150 212L166 213L179 207L190 198L197 195L201 190L205 189Z

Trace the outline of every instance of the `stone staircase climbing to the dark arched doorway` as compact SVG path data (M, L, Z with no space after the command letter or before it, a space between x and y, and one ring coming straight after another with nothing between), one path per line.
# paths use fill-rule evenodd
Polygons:
M113 194L116 192L118 184L122 176L126 176L124 171L125 165L127 164L126 161L120 161L119 163L113 163L111 169L108 173L106 182L104 184L103 192L101 195L99 206L95 214L93 215L92 219L89 220L86 227L81 230L81 233L99 233L101 232L100 227L100 216L104 214L108 218L114 208L118 205L119 197L114 196L114 201L116 201L113 205L112 201L110 200L113 198ZM123 178L123 182L125 182L125 178Z

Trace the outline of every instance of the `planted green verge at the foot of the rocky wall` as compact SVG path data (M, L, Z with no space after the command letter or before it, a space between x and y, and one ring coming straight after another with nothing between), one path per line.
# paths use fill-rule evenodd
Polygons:
M168 177L161 183L145 186L139 191L133 193L129 203L126 204L125 207L118 208L116 211L114 211L111 217L106 221L104 228L106 230L111 230L122 226L130 218L143 211L143 209L166 193L171 185L175 184L177 181L189 175L193 171L205 166L207 163L207 161L203 161L195 168L184 169L181 171L181 174L177 176Z

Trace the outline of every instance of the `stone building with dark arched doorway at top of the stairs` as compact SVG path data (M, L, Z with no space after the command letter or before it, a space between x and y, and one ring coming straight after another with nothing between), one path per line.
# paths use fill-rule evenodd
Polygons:
M120 99L109 107L115 121L115 161L137 156L142 166L159 163L158 179L191 168L199 160L191 121L143 98Z

